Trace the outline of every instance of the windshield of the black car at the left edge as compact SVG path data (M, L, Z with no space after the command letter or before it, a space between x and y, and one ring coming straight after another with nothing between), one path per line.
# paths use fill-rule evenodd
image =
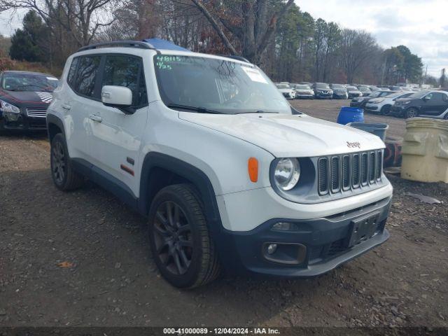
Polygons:
M53 92L59 80L38 73L3 73L1 88L8 91Z

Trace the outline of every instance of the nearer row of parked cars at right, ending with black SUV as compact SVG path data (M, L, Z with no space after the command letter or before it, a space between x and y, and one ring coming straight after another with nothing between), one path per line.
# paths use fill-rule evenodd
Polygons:
M448 119L448 92L380 90L372 92L368 97L353 98L350 106L384 116Z

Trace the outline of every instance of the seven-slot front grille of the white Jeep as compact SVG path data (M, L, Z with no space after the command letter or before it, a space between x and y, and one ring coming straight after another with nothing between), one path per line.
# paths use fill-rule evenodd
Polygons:
M381 181L383 151L318 158L317 166L319 195L344 193L344 191L371 186Z

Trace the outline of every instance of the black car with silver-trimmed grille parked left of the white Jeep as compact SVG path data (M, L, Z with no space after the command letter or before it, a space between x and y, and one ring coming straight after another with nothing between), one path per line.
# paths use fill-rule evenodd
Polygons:
M31 71L0 73L0 131L45 130L45 117L58 80Z

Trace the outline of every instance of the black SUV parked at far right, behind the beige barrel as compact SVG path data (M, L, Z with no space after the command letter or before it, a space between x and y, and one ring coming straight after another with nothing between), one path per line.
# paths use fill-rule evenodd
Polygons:
M419 91L397 99L391 109L393 116L448 119L447 91Z

